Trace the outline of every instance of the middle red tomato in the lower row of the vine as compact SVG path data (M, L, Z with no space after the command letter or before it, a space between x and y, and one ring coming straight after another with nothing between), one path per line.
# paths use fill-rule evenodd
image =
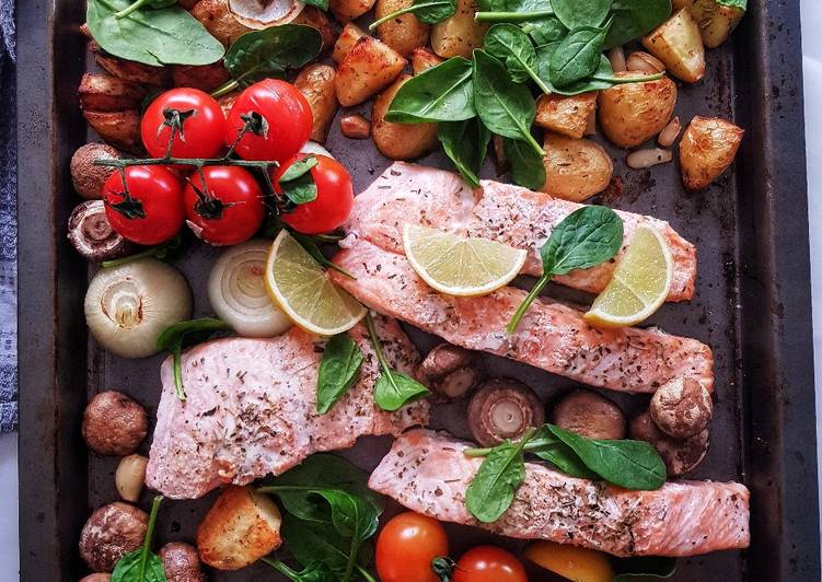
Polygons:
M184 198L192 230L212 245L243 243L263 224L263 190L242 167L206 166L201 175L195 172Z

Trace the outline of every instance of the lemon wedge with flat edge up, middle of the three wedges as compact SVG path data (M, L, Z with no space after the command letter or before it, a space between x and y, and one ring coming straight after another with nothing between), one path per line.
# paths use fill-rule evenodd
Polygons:
M412 224L403 226L405 255L425 282L441 293L484 295L511 282L528 253L485 238Z

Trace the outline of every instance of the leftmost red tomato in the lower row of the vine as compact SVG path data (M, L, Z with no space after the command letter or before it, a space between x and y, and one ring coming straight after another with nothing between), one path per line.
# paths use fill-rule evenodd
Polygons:
M124 238L157 245L174 237L183 226L183 186L165 167L134 165L126 168L126 185L119 172L103 185L105 213Z

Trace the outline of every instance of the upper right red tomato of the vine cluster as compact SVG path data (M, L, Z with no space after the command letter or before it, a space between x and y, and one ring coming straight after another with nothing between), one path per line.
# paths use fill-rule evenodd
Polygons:
M225 143L238 139L245 120L254 120L234 151L245 160L281 162L300 151L311 137L311 107L294 85L265 79L243 91L225 120Z

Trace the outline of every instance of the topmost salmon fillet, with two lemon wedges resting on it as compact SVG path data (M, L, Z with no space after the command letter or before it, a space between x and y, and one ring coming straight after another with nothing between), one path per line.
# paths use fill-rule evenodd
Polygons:
M403 224L413 223L453 232L463 236L491 238L529 252L523 273L542 275L540 247L565 217L583 205L552 198L545 193L482 181L476 190L459 175L403 162L395 162L371 186L358 195L354 210L344 224L348 234L340 246L364 238L395 253L403 252ZM624 222L627 248L640 225L656 228L668 242L673 256L673 281L668 301L694 296L696 247L680 236L671 225L651 217L616 211ZM602 291L615 261L577 270L554 281L588 291Z

